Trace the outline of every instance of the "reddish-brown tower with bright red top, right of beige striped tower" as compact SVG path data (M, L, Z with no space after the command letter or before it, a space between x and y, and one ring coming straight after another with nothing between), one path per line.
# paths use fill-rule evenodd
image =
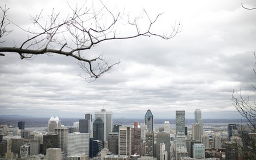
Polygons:
M141 156L141 130L138 122L134 122L131 133L132 155L137 154Z

